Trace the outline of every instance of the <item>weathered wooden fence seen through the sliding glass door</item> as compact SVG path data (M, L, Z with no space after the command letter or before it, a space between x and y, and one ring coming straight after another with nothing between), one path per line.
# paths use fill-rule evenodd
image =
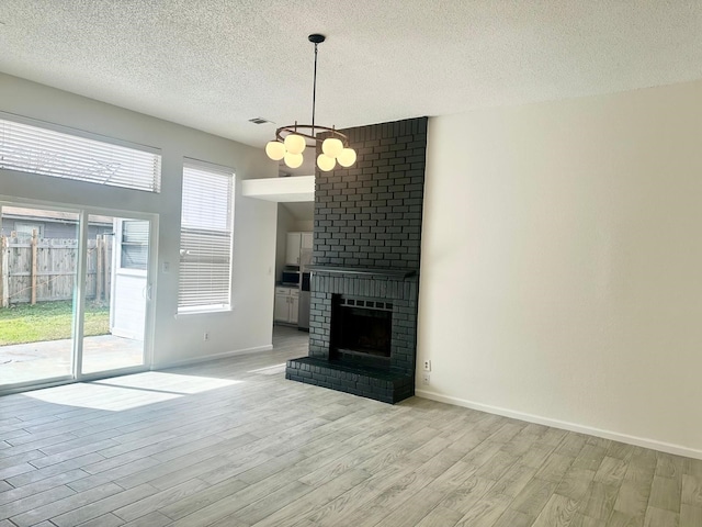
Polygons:
M78 269L78 240L0 237L0 307L70 300ZM110 300L112 236L88 240L86 298Z

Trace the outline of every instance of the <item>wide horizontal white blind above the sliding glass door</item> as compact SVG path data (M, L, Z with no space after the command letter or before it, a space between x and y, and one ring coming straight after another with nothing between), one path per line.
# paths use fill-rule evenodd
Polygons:
M0 168L160 192L156 152L0 119Z

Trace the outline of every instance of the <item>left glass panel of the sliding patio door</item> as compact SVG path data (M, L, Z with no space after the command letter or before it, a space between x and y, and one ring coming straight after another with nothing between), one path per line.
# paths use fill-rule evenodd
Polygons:
M70 379L79 214L0 209L0 389Z

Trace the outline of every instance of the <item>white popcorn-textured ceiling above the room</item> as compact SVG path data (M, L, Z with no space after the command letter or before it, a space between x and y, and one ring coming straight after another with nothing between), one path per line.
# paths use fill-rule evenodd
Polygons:
M3 0L0 71L250 145L702 78L699 0Z

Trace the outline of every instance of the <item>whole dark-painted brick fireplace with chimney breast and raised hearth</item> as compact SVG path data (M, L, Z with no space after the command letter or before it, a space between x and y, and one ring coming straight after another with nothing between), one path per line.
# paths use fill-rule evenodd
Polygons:
M309 356L285 375L396 403L415 394L427 117L343 133L358 161L316 173Z

